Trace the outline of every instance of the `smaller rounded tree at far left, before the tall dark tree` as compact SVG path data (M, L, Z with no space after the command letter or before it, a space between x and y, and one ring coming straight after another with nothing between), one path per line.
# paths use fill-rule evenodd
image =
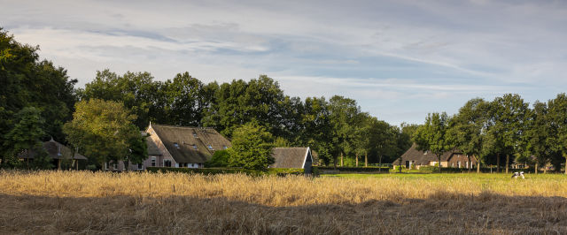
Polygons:
M41 111L35 107L26 107L16 114L16 125L4 137L4 148L10 149L10 156L18 155L22 150L26 150L27 159L29 159L29 151L32 148L40 149L42 141L40 140L45 132L43 131L44 121ZM7 157L2 158L3 166L13 163L6 161ZM11 159L14 160L14 159ZM13 164L12 164L13 165Z

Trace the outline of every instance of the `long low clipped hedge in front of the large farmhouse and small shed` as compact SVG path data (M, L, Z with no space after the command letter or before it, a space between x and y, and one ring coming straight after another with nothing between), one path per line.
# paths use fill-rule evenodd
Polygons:
M249 170L242 168L175 168L175 167L148 167L147 171L151 172L181 172L181 173L193 173L193 174L204 174L204 175L216 175L216 174L237 174L242 173L252 176L260 175L300 175L303 174L303 169L294 168L269 168L267 171L260 170Z

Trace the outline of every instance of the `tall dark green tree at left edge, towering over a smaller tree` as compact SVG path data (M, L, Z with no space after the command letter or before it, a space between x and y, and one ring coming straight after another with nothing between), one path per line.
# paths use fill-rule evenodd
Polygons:
M63 140L62 125L71 119L77 80L50 61L40 61L33 47L16 42L0 27L0 145L4 135L18 122L16 113L26 107L40 110L45 136ZM0 149L0 155L8 155Z

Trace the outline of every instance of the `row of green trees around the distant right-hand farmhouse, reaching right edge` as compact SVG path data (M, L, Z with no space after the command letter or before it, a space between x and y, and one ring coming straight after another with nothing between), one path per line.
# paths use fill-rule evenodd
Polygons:
M418 149L437 155L439 162L440 155L459 149L477 160L478 172L480 163L496 165L497 171L503 165L507 173L510 163L527 163L536 172L552 164L560 171L567 159L567 95L536 101L532 107L520 95L471 99L452 117L445 112L429 114L413 140Z

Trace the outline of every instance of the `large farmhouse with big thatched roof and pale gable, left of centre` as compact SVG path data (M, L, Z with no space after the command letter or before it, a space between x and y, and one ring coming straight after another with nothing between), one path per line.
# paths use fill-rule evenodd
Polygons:
M145 131L148 159L144 163L130 164L132 171L147 167L199 168L211 159L214 151L230 148L230 141L213 128L150 124ZM111 164L106 170L123 171L124 163Z

